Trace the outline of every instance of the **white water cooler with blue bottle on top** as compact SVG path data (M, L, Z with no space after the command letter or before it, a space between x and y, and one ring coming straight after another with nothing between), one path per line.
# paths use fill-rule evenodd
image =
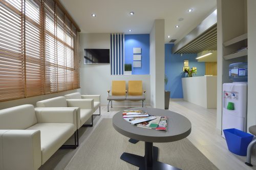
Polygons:
M229 65L229 79L234 82L222 86L222 130L247 130L247 74L246 62Z

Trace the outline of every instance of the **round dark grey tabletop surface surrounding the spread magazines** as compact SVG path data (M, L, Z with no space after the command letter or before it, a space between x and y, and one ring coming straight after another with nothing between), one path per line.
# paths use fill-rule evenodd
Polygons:
M157 131L131 125L123 119L123 111L120 111L113 116L112 123L115 130L124 136L146 142L171 142L183 139L191 132L190 121L181 114L169 110L145 107L127 110L144 110L150 115L167 116L167 130Z

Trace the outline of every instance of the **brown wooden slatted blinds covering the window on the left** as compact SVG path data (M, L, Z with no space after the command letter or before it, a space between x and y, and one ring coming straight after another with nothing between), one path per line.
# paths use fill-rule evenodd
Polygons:
M0 101L80 88L79 28L54 0L0 0Z

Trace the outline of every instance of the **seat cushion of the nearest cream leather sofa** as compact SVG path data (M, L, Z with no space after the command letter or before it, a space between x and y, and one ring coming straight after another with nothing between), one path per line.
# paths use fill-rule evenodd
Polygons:
M44 164L74 134L74 124L43 123L36 124L28 130L41 132L41 157Z

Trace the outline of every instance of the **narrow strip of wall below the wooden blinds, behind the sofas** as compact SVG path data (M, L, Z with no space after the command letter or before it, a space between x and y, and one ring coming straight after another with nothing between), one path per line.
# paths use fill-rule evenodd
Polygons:
M75 90L69 90L69 91L63 91L58 93L52 93L52 94L46 94L46 95L38 95L31 98L24 98L24 99L17 99L12 101L6 101L6 102L0 102L0 109L5 109L9 107L19 106L19 105L25 105L25 104L31 104L36 106L36 102L55 98L57 96L63 96L69 93L74 92L81 92L81 89L75 89Z

